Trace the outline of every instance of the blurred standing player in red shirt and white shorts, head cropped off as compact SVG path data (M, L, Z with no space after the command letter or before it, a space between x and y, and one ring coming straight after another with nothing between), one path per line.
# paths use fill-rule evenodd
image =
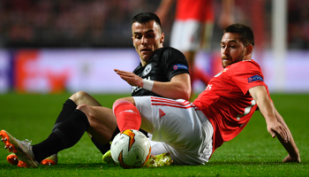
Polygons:
M185 54L192 86L193 82L198 80L207 85L211 77L194 65L194 58L198 50L209 49L215 25L215 0L162 0L155 12L162 23L174 2L176 9L170 46ZM220 27L225 28L232 23L233 8L234 0L222 0L222 14L218 21Z

